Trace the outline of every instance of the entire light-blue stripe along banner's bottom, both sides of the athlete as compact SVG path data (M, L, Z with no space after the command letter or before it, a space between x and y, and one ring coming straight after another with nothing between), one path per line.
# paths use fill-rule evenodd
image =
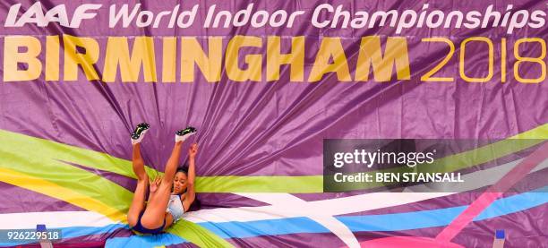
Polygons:
M528 210L548 203L548 186L533 192L525 192L494 201L474 220L496 218L522 210ZM288 206L290 207L290 206ZM458 206L440 210L424 210L396 214L369 215L369 216L340 216L336 217L347 225L353 232L363 231L398 231L426 227L443 227L457 218L465 206ZM296 233L329 233L330 231L310 218L280 218L248 222L230 221L198 223L201 227L222 238L245 238L259 235L287 235ZM109 234L118 228L127 228L127 225L113 224L105 227L64 227L63 238L78 237L81 235ZM182 244L187 242L183 238L172 235L132 235L130 237L114 237L107 239L108 247L151 247L159 245ZM24 243L20 243L24 244ZM0 243L0 246L12 246L18 243Z

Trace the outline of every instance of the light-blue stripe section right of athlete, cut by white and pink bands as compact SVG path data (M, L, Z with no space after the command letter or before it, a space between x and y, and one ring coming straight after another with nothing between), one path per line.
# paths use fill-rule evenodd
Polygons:
M525 192L494 201L475 221L496 218L522 210L528 210L548 202L548 187ZM290 208L290 206L287 206ZM353 232L398 231L426 227L443 227L457 218L468 206L441 210L424 210L396 214L337 217ZM310 218L265 219L248 222L230 221L199 223L201 227L223 238L244 238L258 235L285 235L295 233L328 233L325 227Z

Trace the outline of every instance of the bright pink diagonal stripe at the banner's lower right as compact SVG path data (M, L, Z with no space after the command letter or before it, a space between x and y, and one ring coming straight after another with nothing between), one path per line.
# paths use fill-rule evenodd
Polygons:
M527 156L518 166L514 167L499 182L493 184L486 192L482 193L470 206L455 218L449 226L445 227L436 240L440 242L450 242L453 237L467 227L468 223L474 220L482 211L484 211L492 201L495 201L519 180L523 179L533 168L543 162L548 157L548 142Z

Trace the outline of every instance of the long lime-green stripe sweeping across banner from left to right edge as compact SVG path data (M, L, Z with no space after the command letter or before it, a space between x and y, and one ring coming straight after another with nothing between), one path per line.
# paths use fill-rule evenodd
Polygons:
M115 158L106 153L85 150L78 147L34 138L19 133L11 133L0 130L0 137L8 140L7 143L17 143L13 147L18 149L30 150L30 154L39 152L55 156L56 159L72 162L85 167L97 168L119 175L125 175L135 178L131 161L122 158ZM516 143L517 139L537 139L526 140ZM535 144L548 139L548 124L540 125L524 133L519 133L509 137L507 140L494 142L476 150L469 150L463 153L441 158L438 162L424 166L421 171L455 171L465 167L474 167L494 158L501 158L519 150L527 149ZM5 142L3 142L5 144ZM511 145L509 145L511 143ZM1 147L1 145L0 145ZM454 164L452 164L454 162ZM444 165L440 170L441 163ZM161 174L153 168L146 167L150 176ZM390 171L390 170L387 170ZM301 176L283 176L283 175L265 175L265 176L197 176L197 192L287 192L287 193L311 193L323 192L322 175L301 175Z

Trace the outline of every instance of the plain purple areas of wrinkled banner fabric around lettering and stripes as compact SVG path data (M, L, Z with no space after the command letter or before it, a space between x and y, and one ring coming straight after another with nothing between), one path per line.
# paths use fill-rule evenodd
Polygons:
M95 1L114 4L113 1ZM235 11L247 6L247 1L131 1L141 3L143 9L153 12L181 8L190 9L194 4L218 4L219 8ZM343 4L349 10L390 10L419 11L424 1L330 1ZM41 1L52 7L62 1ZM5 20L9 7L14 1L0 3L0 20ZM24 1L22 8L30 6ZM72 11L84 1L64 3ZM271 12L284 9L289 11L310 10L320 1L259 1L256 8ZM432 2L430 9L441 10L484 10L488 4L503 10L507 4L514 9L545 9L543 1L438 1ZM203 19L206 8L201 7L197 18ZM303 20L310 19L310 12ZM107 153L116 158L131 160L132 146L129 133L133 126L143 121L151 125L147 139L142 144L142 154L147 165L163 171L173 146L174 132L186 125L196 126L199 133L200 156L197 160L197 175L321 175L323 139L494 139L501 140L526 132L548 123L548 86L545 81L538 84L524 84L515 80L501 83L495 76L492 81L469 83L456 77L454 82L424 82L420 76L438 64L447 54L447 47L428 45L421 38L447 37L455 44L471 36L489 37L493 41L507 38L514 44L518 38L548 38L548 28L515 30L508 35L504 29L428 29L415 28L394 33L390 27L374 29L317 29L307 21L299 22L293 28L256 29L249 26L229 29L202 29L193 25L188 29L144 28L134 25L124 29L107 29L108 9L99 10L93 22L84 22L79 29L70 29L56 24L45 28L25 25L22 28L2 28L0 36L30 35L44 43L47 35L70 34L90 37L98 41L101 54L107 38L113 36L150 36L154 38L157 50L158 68L161 68L161 38L167 36L196 36L205 43L207 37L223 37L223 47L229 38L236 35L266 38L276 35L284 42L291 37L306 38L304 74L310 73L315 53L323 37L340 37L348 58L350 73L355 74L355 64L359 52L360 38L379 35L381 40L389 36L407 38L412 80L390 82L340 82L334 73L327 74L318 82L289 82L288 67L280 70L279 81L235 82L227 78L223 69L222 78L217 83L205 81L196 73L192 83L115 82L87 81L79 70L78 81L45 81L40 75L35 81L0 83L0 130L57 141L87 150ZM132 38L130 38L132 40ZM247 49L244 52L265 52L263 48ZM284 43L288 44L288 43ZM499 44L499 43L495 43ZM495 45L496 47L497 45ZM528 45L527 45L528 46ZM527 47L524 46L524 47ZM0 38L4 47L4 38ZM530 48L530 47L529 47ZM61 50L63 52L63 49ZM458 47L457 47L458 52ZM495 49L495 57L500 57L500 49ZM527 51L524 51L527 54ZM531 52L533 53L533 52ZM513 54L509 46L508 55ZM244 55L241 55L241 57ZM530 55L535 56L535 54ZM4 60L4 53L0 54ZM482 75L486 53L482 47L468 47L467 61L470 74ZM44 53L39 58L43 61ZM495 60L497 61L497 60ZM509 56L509 63L515 58ZM545 58L544 58L545 61ZM495 62L496 63L496 62ZM97 64L104 64L99 56ZM102 74L102 66L97 66ZM0 67L2 68L2 67ZM224 68L224 67L223 67ZM494 75L500 75L496 65ZM179 70L179 69L177 69ZM508 66L511 75L513 69ZM158 69L158 71L161 71ZM178 72L178 71L177 71ZM197 71L198 72L198 71ZM536 77L539 68L535 64L524 64L520 72L524 77ZM0 74L10 72L0 71ZM63 68L61 66L61 74ZM458 53L438 74L458 75ZM2 137L0 137L1 139ZM1 152L1 150L0 150ZM32 156L31 154L29 156ZM185 156L185 155L184 155ZM94 171L116 184L133 191L134 180L122 175ZM541 185L542 186L542 185ZM303 193L295 196L304 201L333 199L350 196L354 193ZM70 203L47 197L38 192L30 192L11 184L0 182L0 197L6 200L0 204L0 214L26 211L69 211L81 210ZM360 212L355 214L386 214L412 210L431 210L438 206L460 206L468 204L469 194L458 194L446 198L420 201L391 210ZM258 207L261 201L254 201L232 194L204 193L199 197L205 209ZM43 205L35 205L40 202ZM288 208L291 208L288 206ZM547 238L539 221L546 222L546 205L533 210L518 212L475 223L453 240L467 247L484 246L492 243L492 235L484 235L486 226L511 227L520 222L524 226L515 233L516 239L509 244L518 247L545 245ZM494 227L493 226L493 227ZM355 232L359 241L390 235L432 236L440 227L429 227L394 232ZM481 234L481 235L475 235ZM111 236L127 236L111 235ZM467 235L475 240L467 239ZM533 238L523 240L527 235ZM87 236L82 241L105 240L108 236ZM522 242L523 240L523 242ZM259 237L229 239L237 246L315 246L330 244L344 245L337 236L331 234L290 234L262 235ZM187 244L184 244L187 245ZM525 247L524 246L524 247Z

